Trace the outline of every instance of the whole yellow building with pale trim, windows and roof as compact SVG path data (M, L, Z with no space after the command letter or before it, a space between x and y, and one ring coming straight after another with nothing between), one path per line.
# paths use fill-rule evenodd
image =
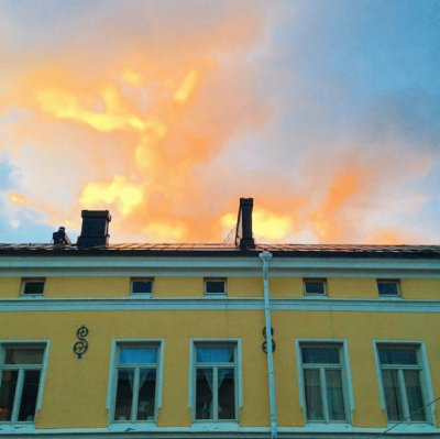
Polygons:
M0 245L0 438L440 437L440 248L81 237Z

